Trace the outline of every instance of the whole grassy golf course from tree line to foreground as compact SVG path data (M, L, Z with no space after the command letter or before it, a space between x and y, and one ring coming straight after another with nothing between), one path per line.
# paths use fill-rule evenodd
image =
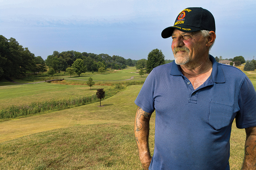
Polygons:
M245 72L256 88L256 71ZM59 107L35 114L0 119L0 170L141 170L133 134L137 106L134 100L148 74L135 67L103 74L56 75L36 79L0 81L0 110L57 103ZM86 84L92 77L95 84ZM37 83L39 81L44 81ZM80 102L83 96L104 89L106 97ZM92 97L91 97L92 98ZM61 102L74 99L62 107ZM46 107L46 106L45 106ZM6 112L7 114L7 112ZM154 152L155 113L150 119L149 147ZM240 170L245 130L232 125L230 169ZM210 154L210 153L209 153Z

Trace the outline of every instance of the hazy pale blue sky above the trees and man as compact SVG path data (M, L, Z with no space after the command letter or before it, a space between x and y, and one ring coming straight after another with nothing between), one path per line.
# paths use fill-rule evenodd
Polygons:
M188 7L213 14L214 57L256 58L255 0L0 0L0 35L43 59L74 50L139 60L158 48L173 60L171 38L161 32Z

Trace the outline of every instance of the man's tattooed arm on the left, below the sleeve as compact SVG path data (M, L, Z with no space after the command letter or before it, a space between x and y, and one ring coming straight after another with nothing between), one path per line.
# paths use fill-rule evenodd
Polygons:
M147 113L139 107L134 122L134 135L139 150L140 162L145 170L148 169L152 159L148 147L150 117L151 113Z

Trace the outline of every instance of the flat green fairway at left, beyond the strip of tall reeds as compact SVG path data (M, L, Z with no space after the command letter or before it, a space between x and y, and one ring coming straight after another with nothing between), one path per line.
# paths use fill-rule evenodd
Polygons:
M2 86L0 87L0 108L6 108L10 105L91 95L95 94L99 88L106 90L109 86L95 85L90 90L90 87L86 85L86 81L84 81L83 85L62 85L42 82Z

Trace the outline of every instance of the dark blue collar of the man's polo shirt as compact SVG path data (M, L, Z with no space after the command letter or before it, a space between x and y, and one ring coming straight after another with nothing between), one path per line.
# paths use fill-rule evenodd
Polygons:
M220 66L220 63L218 63L215 58L209 54L209 58L212 61L212 81L215 83L224 83L225 77L223 73L223 69ZM175 61L172 62L172 69L171 69L171 75L182 75L180 66L175 63Z

